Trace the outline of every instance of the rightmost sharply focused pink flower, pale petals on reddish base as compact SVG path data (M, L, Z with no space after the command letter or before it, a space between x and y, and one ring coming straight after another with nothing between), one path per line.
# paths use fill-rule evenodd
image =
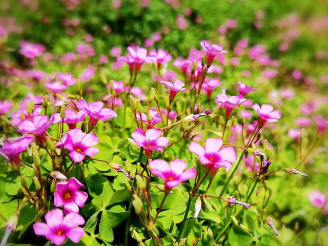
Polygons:
M258 104L253 104L252 108L257 112L259 116L258 127L262 128L265 122L277 122L281 118L279 110L274 110L272 105L262 104L260 107Z

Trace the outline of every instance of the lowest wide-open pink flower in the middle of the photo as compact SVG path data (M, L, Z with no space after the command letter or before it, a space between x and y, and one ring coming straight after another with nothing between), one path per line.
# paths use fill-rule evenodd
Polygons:
M174 159L170 165L165 160L156 159L149 163L151 173L165 180L165 189L171 190L180 183L196 177L194 167L186 170L187 163L180 159Z

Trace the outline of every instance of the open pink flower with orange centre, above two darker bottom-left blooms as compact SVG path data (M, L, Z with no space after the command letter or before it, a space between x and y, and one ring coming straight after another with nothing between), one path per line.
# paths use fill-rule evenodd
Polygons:
M92 148L98 144L98 137L92 133L84 133L79 128L68 132L64 142L64 148L70 151L69 156L73 161L83 161L85 156L94 156L99 152L97 148Z

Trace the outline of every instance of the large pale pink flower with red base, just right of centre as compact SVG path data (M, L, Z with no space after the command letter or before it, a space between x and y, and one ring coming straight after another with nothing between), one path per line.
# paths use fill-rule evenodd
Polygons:
M223 167L228 171L231 163L237 159L234 148L230 146L221 148L222 144L221 138L208 138L205 149L196 142L191 142L189 151L195 153L199 162L205 165L206 172L214 176L219 168Z

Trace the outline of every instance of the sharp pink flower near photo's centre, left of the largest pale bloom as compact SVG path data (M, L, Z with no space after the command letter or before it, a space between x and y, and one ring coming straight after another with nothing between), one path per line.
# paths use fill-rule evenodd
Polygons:
M153 151L162 151L163 147L169 144L169 139L161 137L160 129L149 129L146 134L141 128L136 129L132 134L132 138L137 146L145 149L146 158L149 159L153 155Z

